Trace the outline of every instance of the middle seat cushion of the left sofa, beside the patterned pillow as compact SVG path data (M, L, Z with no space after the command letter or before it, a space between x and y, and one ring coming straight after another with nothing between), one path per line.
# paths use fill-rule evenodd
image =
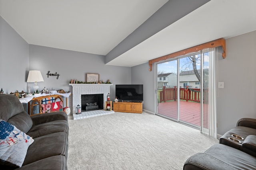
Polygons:
M67 133L58 132L34 138L34 143L28 148L23 165L56 155L63 155L67 158Z

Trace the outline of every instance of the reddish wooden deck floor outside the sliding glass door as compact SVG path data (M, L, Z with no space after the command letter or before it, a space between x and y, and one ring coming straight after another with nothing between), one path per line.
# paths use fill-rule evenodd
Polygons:
M177 101L158 104L158 114L178 118ZM180 101L180 120L200 126L200 103Z

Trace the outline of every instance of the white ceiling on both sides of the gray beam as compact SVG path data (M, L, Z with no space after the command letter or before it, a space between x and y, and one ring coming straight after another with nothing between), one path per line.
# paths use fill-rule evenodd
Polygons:
M167 1L0 0L0 16L29 44L106 55ZM256 0L211 0L107 64L136 66L254 31L255 8Z

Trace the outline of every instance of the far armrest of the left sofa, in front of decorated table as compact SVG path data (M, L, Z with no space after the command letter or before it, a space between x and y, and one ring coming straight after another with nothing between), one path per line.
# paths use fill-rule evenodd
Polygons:
M33 125L39 125L42 123L55 121L55 120L66 120L68 121L68 115L64 111L56 111L51 113L36 114L30 116Z

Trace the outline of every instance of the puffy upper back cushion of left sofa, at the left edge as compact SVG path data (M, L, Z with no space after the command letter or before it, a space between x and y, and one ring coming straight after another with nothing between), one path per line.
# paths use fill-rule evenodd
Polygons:
M4 121L24 111L20 100L12 94L0 95L0 108L0 119Z

